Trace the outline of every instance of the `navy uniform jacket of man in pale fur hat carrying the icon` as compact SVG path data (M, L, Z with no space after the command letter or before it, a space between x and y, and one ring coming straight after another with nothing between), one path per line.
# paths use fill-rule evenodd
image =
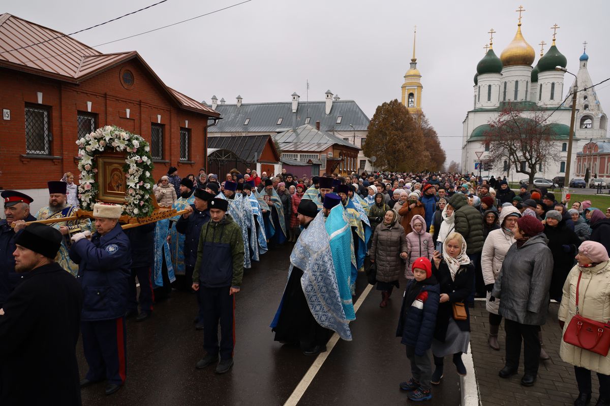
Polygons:
M70 259L79 265L83 291L82 321L112 320L127 310L131 274L131 245L117 223L109 233L81 239L70 247Z

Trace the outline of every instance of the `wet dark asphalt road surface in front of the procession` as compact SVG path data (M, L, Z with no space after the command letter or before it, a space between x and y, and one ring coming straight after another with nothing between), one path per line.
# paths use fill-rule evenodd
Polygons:
M235 365L224 375L214 366L195 369L204 355L203 332L196 331L195 295L174 290L142 323L127 320L127 380L111 396L104 383L84 388L82 404L93 405L283 405L315 356L273 341L269 326L284 290L292 244L276 248L245 271L236 297ZM404 288L404 281L401 286ZM367 286L356 282L356 297ZM398 383L410 377L404 346L395 337L401 292L386 309L375 290L350 324L353 341L339 340L304 392L299 405L404 404ZM87 372L82 341L77 348L81 377ZM429 405L459 405L458 375L447 360L443 382L432 388Z

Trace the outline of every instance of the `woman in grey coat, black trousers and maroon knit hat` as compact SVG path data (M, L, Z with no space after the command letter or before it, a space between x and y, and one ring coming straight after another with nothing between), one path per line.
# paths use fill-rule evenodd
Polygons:
M506 365L499 375L508 378L517 373L523 341L525 374L521 384L525 387L536 382L540 363L538 332L547 321L553 275L553 254L543 231L542 222L534 217L517 219L513 229L516 242L506 253L492 290L493 298L501 298L498 313L504 317L506 332Z

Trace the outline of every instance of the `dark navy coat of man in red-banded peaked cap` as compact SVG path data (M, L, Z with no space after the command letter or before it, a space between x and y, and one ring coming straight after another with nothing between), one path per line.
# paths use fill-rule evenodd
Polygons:
M34 222L36 217L28 215L26 222ZM7 224L6 219L0 220L0 307L9 297L9 293L23 281L27 273L15 272L15 231Z

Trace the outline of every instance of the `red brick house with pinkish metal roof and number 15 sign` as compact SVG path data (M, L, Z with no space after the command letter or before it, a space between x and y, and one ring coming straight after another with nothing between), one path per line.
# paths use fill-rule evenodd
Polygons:
M0 189L42 189L30 192L45 200L47 181L77 175L74 141L95 128L142 135L154 178L170 166L184 177L206 167L207 126L220 117L135 51L102 54L10 14L0 15L0 89Z

